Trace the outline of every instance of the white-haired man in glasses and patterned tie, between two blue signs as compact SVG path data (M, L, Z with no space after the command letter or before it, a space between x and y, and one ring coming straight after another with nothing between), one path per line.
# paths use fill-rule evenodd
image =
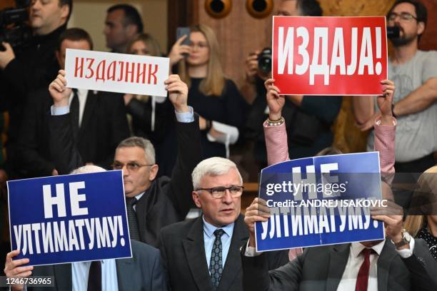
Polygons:
M243 290L240 247L248 229L241 213L243 180L226 158L201 161L192 173L194 203L203 215L169 225L159 248L171 290ZM272 269L288 262L288 251L268 254Z

